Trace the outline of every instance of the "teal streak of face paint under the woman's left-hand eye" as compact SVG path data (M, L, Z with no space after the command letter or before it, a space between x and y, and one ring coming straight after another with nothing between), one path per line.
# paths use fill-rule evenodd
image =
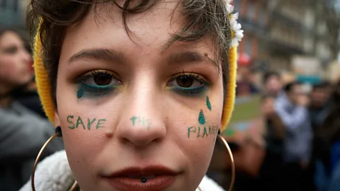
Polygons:
M106 85L106 86L98 86L98 85L90 85L87 83L80 83L77 91L77 98L83 98L84 96L105 96L111 91L114 91L119 86Z

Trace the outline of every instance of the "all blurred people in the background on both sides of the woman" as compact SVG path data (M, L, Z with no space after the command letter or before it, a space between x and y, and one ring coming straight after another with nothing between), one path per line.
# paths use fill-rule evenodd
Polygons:
M54 134L36 93L32 64L21 37L0 30L0 190L18 190L28 181L38 151ZM265 117L266 144L249 149L230 143L237 166L234 190L335 191L340 187L340 83L320 81L308 89L278 71L264 74L262 86L254 79L249 64L239 66L237 96L262 96L262 110L254 112ZM54 140L42 158L61 149L62 141ZM242 149L246 156L237 156ZM242 157L250 157L249 164L239 162Z

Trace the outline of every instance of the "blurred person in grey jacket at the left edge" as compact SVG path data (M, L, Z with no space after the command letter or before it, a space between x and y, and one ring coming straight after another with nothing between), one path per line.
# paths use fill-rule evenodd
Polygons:
M0 30L0 190L16 191L28 181L35 156L55 133L50 122L14 101L32 81L30 64L21 37ZM62 148L62 141L53 141L44 156Z

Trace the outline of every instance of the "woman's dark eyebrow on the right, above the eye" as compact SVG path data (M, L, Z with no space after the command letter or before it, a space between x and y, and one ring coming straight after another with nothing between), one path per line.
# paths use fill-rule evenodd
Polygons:
M188 62L201 62L203 60L208 60L215 64L215 61L210 59L208 56L200 54L200 52L176 52L171 54L169 57L169 64L179 64L179 63L188 63Z

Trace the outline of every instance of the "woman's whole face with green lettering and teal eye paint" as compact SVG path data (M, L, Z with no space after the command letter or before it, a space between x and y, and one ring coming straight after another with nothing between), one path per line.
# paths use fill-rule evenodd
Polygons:
M110 17L91 11L67 30L56 115L82 190L188 191L205 175L222 118L222 74L209 37L162 48L184 22L179 13L170 21L175 5L129 17L132 39L114 7Z

